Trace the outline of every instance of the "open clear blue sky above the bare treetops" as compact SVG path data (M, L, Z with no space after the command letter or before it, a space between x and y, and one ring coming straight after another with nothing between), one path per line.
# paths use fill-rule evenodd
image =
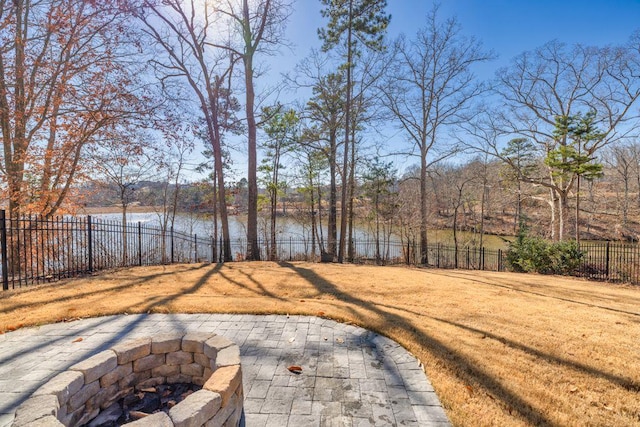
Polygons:
M391 14L389 36L404 32L411 37L424 25L433 2L387 0ZM320 16L319 0L297 0L287 28L295 46L293 54L278 58L272 71L295 65L311 47L319 47L317 29L326 24ZM640 0L443 0L440 17L456 16L462 32L493 49L498 59L479 72L491 78L493 71L507 65L526 50L558 39L573 44L607 45L624 43L640 29ZM277 65L276 65L277 64Z

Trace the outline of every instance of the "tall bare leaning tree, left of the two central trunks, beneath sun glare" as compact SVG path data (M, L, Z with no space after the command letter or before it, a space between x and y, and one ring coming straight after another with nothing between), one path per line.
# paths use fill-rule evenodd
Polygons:
M137 16L146 33L166 56L152 60L162 81L179 78L186 81L202 111L206 134L213 150L217 178L217 212L220 214L223 238L223 259L230 261L231 242L227 215L223 167L222 134L224 133L225 98L233 66L239 56L217 47L214 36L217 15L207 2L190 0L145 0Z

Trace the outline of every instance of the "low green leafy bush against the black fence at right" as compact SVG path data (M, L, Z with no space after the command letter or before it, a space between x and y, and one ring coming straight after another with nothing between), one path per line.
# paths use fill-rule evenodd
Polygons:
M571 274L583 256L575 241L549 242L530 236L521 225L516 240L509 245L507 262L514 271L523 273Z

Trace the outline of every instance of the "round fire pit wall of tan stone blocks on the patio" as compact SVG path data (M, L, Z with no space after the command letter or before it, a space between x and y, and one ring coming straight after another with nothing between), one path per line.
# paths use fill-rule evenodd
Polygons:
M71 366L16 411L13 427L80 426L122 397L160 384L202 389L127 426L238 426L243 411L240 350L215 334L164 334L117 344Z

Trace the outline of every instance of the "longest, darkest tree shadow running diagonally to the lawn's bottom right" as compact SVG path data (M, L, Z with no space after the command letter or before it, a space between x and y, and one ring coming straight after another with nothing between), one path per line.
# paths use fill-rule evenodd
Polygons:
M443 364L454 365L452 370L462 377L461 379L463 381L476 381L489 391L493 397L499 399L504 407L516 411L530 424L548 426L557 425L548 419L542 412L536 410L536 408L534 408L533 405L527 402L523 397L512 393L490 374L470 363L464 355L456 351L453 347L420 331L418 327L408 319L383 310L380 306L369 301L365 301L355 295L341 291L333 283L313 270L299 267L288 262L281 262L280 265L295 271L300 277L308 281L312 286L316 287L318 291L335 295L340 300L374 313L384 318L386 323L403 329L408 334L412 335L416 342L429 348L432 354L438 357Z

